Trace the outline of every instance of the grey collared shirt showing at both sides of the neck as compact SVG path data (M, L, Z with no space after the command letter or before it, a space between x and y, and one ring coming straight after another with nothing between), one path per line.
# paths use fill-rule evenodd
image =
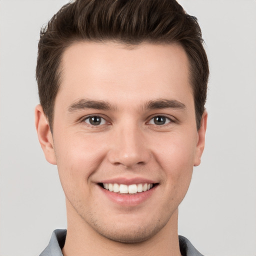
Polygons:
M64 246L66 229L56 229L52 232L49 244L39 256L63 256L61 248ZM184 236L179 235L179 249L182 256L203 256Z

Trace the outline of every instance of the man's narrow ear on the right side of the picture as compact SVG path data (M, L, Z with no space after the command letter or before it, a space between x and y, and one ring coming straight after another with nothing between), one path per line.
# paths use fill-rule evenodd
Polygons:
M207 126L207 112L204 111L201 118L200 128L197 131L198 141L196 144L194 166L198 166L201 162L201 155L204 149L204 142L205 142L206 126Z

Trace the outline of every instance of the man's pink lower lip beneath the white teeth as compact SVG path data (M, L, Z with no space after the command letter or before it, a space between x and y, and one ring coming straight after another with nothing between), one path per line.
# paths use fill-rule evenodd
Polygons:
M109 190L104 189L103 187L99 186L102 192L113 202L122 205L122 206L136 206L143 201L147 200L152 193L155 191L156 186L153 186L151 189L145 192L138 192L134 194L121 194L110 192Z

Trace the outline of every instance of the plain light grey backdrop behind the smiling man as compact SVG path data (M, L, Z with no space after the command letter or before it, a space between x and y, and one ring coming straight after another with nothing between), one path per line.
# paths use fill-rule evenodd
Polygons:
M34 128L40 26L66 0L0 0L0 256L38 255L64 228L56 167ZM179 0L198 17L210 62L202 163L179 233L203 254L256 255L256 1Z

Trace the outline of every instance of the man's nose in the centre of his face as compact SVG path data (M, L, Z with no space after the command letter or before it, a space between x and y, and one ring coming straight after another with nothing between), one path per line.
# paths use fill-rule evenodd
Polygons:
M135 168L146 164L150 159L150 150L146 136L138 126L116 129L111 138L108 160L114 165Z

